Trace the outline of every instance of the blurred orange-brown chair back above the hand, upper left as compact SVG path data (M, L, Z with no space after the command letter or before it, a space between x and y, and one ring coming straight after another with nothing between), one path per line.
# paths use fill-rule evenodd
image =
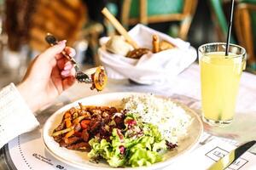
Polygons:
M69 46L81 38L83 26L88 22L86 6L80 0L38 0L31 17L29 44L42 51L49 45L44 41L47 32L58 39L66 39Z

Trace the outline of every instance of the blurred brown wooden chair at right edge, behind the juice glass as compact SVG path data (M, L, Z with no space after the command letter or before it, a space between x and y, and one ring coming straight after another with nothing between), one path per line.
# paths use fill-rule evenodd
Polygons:
M236 7L236 35L239 44L247 50L247 70L256 73L256 1L241 1Z

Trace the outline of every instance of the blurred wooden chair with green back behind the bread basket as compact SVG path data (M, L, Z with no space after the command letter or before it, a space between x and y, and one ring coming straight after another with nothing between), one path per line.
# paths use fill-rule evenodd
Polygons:
M186 39L195 14L197 0L123 0L121 22L124 26L179 21L177 37Z

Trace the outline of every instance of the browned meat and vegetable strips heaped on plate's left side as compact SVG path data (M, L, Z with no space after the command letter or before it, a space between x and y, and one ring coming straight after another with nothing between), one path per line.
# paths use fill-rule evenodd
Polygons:
M110 141L113 128L125 128L124 117L124 112L119 113L115 107L79 104L78 108L73 107L65 111L61 124L55 128L53 137L61 147L90 151L88 144L90 139ZM68 128L65 126L67 118L72 123ZM67 135L71 131L73 133Z

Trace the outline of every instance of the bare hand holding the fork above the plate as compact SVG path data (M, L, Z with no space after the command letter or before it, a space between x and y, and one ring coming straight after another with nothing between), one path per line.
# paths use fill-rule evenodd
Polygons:
M29 65L18 90L32 111L37 111L52 102L75 82L73 65L61 51L75 55L73 48L66 47L66 41L48 48Z

